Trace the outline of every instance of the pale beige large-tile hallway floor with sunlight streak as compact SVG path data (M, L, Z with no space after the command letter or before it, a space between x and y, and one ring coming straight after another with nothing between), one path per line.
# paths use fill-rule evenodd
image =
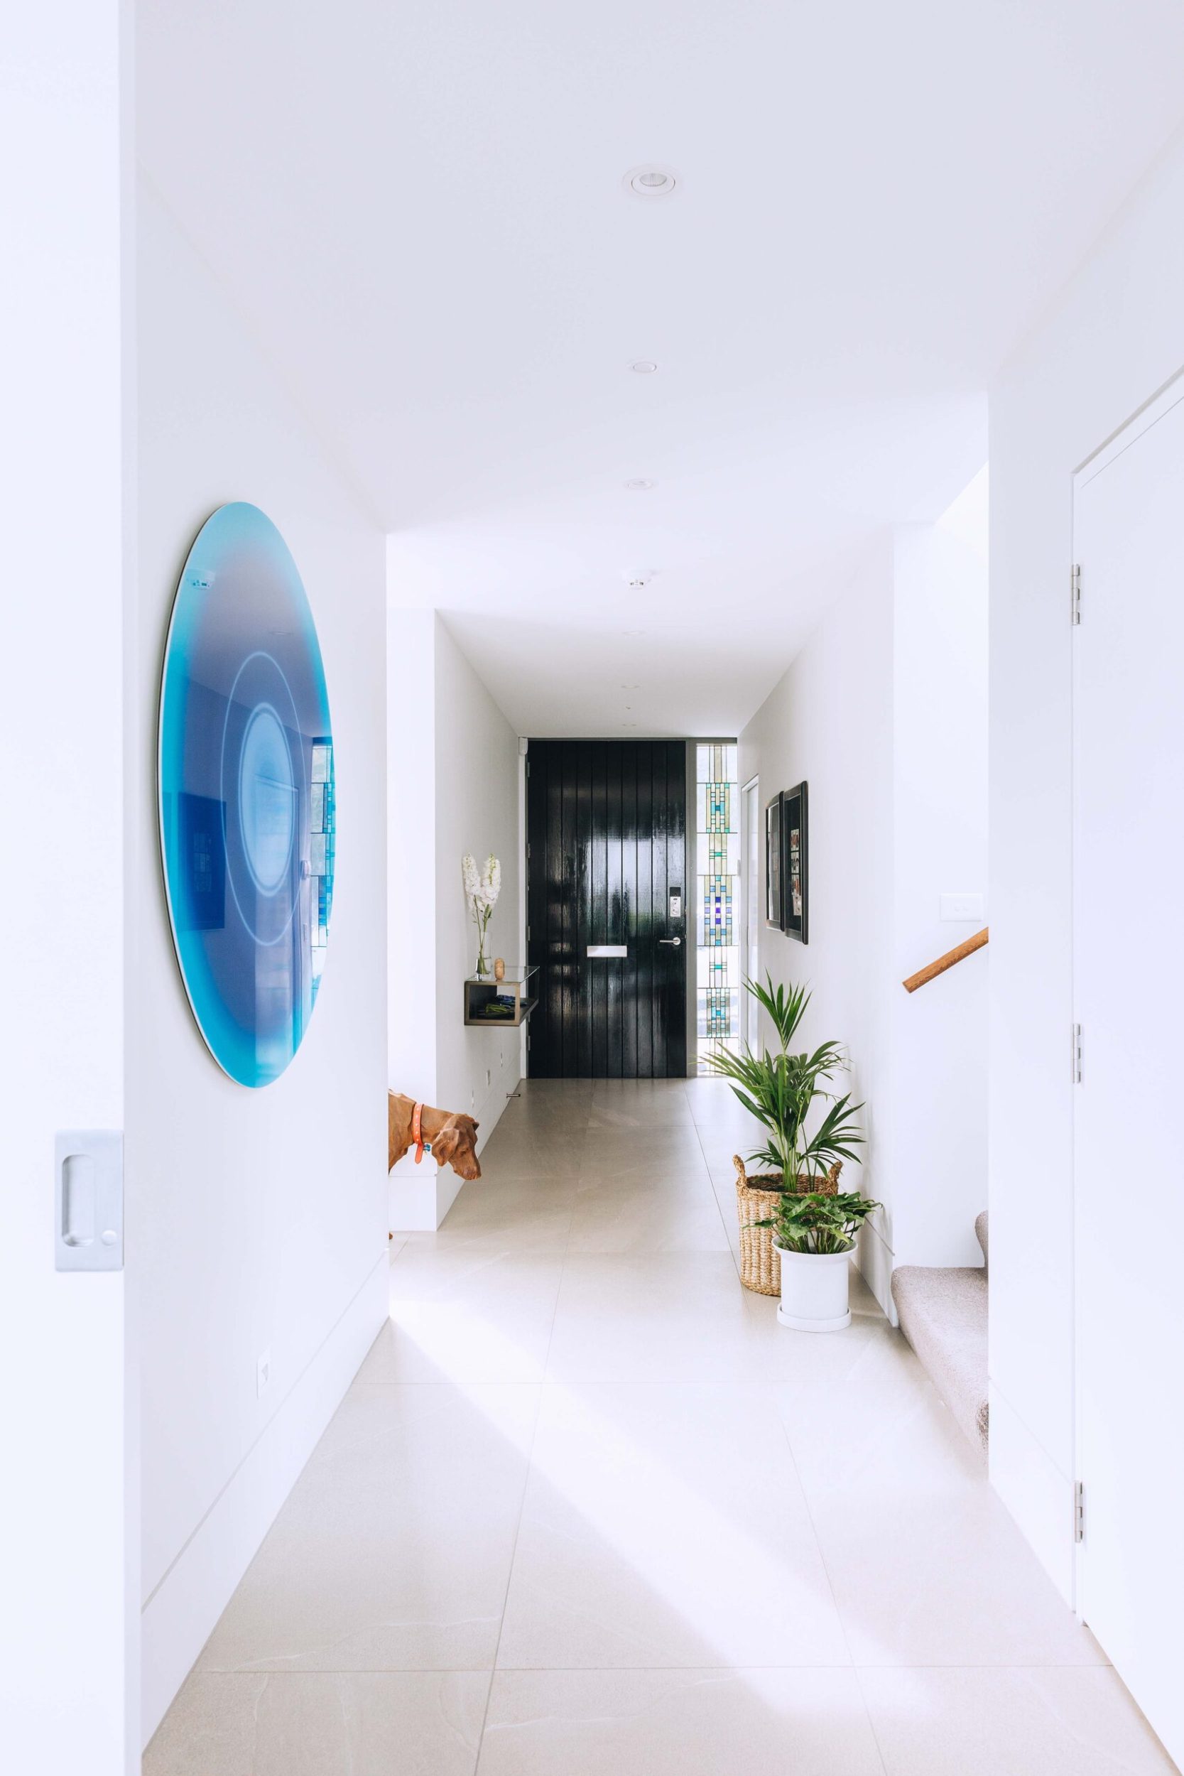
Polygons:
M1118 1776L1172 1765L856 1279L735 1268L715 1082L524 1087L147 1776Z

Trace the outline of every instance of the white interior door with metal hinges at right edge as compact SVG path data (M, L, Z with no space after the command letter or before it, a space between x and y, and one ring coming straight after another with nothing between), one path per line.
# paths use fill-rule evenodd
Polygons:
M1184 385L1074 487L1079 1606L1184 1762ZM1040 1229L1031 1229L1040 1240Z

